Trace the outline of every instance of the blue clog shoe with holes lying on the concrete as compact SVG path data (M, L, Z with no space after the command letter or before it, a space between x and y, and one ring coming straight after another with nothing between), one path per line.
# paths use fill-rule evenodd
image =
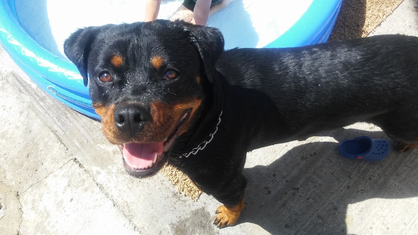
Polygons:
M376 162L385 159L389 154L390 143L387 140L359 136L342 141L338 150L345 158Z

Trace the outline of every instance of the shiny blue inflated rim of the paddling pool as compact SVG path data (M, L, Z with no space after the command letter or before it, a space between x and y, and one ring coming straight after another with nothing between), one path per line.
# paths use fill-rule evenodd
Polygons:
M342 0L314 0L293 26L265 47L297 47L326 42ZM0 0L0 43L28 77L55 99L94 119L87 87L76 66L40 46L20 26L15 0Z

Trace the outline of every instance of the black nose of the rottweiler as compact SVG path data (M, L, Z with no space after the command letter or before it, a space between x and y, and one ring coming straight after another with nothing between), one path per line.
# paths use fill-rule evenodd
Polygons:
M139 105L123 105L118 107L114 113L115 125L119 130L130 133L131 137L144 128L150 115Z

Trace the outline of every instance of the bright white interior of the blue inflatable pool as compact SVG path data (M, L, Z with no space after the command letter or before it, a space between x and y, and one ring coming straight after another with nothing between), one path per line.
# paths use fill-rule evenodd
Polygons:
M314 0L235 0L212 15L225 49L263 47L287 31ZM169 19L183 0L162 0L159 19ZM48 51L64 56L64 40L77 28L143 21L144 0L15 0L21 26Z

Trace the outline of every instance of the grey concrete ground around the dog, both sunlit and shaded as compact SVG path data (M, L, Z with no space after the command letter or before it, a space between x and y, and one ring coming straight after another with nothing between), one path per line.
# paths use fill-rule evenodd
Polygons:
M405 0L373 33L418 36ZM237 225L212 225L214 198L178 194L161 174L125 173L100 125L37 88L0 51L0 234L418 234L418 150L351 161L337 142L364 123L248 153ZM416 111L416 110L414 110Z

